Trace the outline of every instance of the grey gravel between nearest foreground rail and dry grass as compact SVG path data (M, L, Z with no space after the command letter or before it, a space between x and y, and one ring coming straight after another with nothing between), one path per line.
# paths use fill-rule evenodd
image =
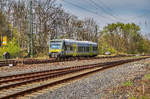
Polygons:
M104 99L105 90L115 87L124 81L134 79L145 72L145 67L150 59L128 63L92 74L65 86L59 86L55 90L32 99Z

